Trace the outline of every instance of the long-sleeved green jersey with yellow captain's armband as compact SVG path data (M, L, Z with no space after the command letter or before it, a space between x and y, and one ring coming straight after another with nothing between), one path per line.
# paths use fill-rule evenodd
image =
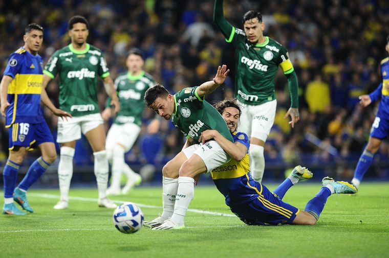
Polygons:
M288 78L291 107L297 108L297 77L287 49L269 37L265 37L263 43L252 44L243 30L236 29L225 20L222 0L215 1L214 21L226 41L232 43L235 49L235 97L248 105L260 105L274 100L274 79L280 66Z

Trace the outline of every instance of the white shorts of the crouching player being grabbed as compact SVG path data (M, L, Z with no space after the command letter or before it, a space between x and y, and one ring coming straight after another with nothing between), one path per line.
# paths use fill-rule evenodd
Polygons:
M218 168L228 161L231 157L215 141L210 140L206 144L195 144L183 150L185 156L189 159L193 154L197 154L204 161L207 167L207 173Z

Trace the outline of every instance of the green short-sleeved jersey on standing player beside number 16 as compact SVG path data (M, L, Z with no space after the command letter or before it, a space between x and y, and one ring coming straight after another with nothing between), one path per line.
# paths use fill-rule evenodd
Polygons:
M54 78L59 74L60 109L81 116L100 112L97 101L98 77L110 75L103 53L87 44L75 50L72 44L56 51L43 72Z

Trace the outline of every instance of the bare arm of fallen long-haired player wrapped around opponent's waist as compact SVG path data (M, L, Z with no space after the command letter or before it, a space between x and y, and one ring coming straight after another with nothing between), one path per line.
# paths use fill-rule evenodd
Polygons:
M210 139L214 139L220 147L231 156L231 158L236 159L237 161L241 161L247 153L247 147L245 145L240 142L232 143L217 130L205 130L201 133L199 142L204 144Z

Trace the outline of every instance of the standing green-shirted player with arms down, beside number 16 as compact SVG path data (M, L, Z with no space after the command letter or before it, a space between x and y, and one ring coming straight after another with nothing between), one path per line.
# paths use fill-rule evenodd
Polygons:
M115 107L115 112L119 111L119 102L103 53L87 43L88 34L87 19L73 16L69 20L71 43L56 51L44 70L43 86L46 87L48 82L58 75L60 108L73 115L72 119L58 120L57 142L61 145L58 179L61 197L54 206L55 209L68 207L74 148L76 140L81 138L81 133L87 137L95 157L98 205L116 207L116 204L106 197L109 167L105 150L105 131L97 101L99 77L112 98L111 105Z

